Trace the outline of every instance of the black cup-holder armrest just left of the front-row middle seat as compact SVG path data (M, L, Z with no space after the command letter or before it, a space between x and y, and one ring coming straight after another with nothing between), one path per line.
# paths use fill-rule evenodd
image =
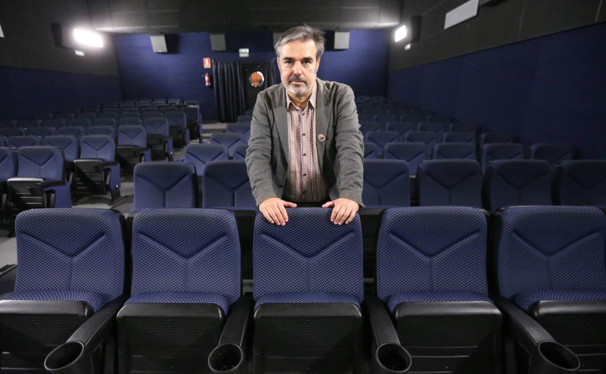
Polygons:
M213 374L227 370L234 374L246 373L246 331L253 304L253 298L244 295L231 307L219 344L208 354L208 367Z

